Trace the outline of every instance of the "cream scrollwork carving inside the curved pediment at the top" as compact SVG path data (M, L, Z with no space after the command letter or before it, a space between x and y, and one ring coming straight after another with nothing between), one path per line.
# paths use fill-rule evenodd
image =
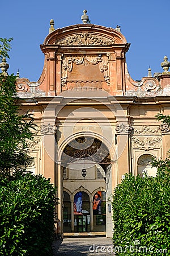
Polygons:
M58 40L56 44L59 46L109 46L114 44L114 39L109 40L104 36L81 33Z

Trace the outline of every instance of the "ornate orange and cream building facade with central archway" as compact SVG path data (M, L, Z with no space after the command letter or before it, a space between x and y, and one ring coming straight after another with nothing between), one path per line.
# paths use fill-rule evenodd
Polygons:
M135 81L120 28L90 24L86 11L82 20L56 30L50 20L40 79L18 77L17 88L21 112L39 126L29 170L57 187L58 233L112 237L114 187L127 172L155 175L152 156L164 159L170 148L170 129L155 118L169 114L170 64L165 56L162 73Z

